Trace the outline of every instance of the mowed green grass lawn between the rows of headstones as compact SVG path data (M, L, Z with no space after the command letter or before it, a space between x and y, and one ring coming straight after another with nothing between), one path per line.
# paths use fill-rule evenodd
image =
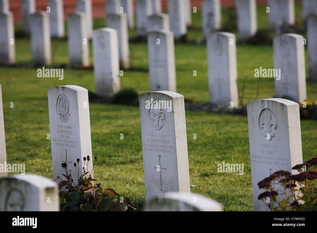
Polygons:
M300 14L301 5L296 4L296 18L301 19ZM223 19L225 17L223 14ZM267 28L265 6L258 7L257 18L259 28ZM196 102L207 102L206 45L194 43L202 37L200 11L193 13L192 19L195 28L188 32L189 42L175 44L177 92ZM104 19L96 19L94 26L103 27ZM130 31L129 35L132 38L136 33ZM124 76L120 77L121 88L133 88L139 94L148 92L146 43L130 43L129 46L133 70L124 71ZM52 67L68 64L66 40L52 40L52 53ZM92 50L90 54L92 61ZM16 58L19 64L31 60L29 39L16 38ZM239 90L247 76L245 105L256 96L254 69L273 68L273 49L271 46L238 45L237 65ZM197 76L192 75L193 70L197 71ZM65 68L64 79L58 80L38 78L37 68L0 67L0 84L8 163L25 163L27 173L53 179L50 140L46 139L49 133L47 89L72 84L94 92L93 70ZM317 100L316 88L316 83L307 81L309 99ZM258 99L273 95L274 80L263 78ZM10 108L10 102L14 103L14 108ZM113 188L141 205L145 187L139 108L93 102L89 107L93 157L98 157L95 178L104 189ZM223 202L223 210L253 210L247 117L186 111L186 128L190 183L194 185L191 191ZM304 161L317 154L316 129L316 121L301 121ZM121 133L123 140L120 140ZM223 161L244 164L244 175L218 173L217 164Z

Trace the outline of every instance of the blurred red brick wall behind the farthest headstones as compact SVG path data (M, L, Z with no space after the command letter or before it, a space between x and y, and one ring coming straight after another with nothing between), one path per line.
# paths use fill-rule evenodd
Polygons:
M48 0L35 0L36 1L36 10L46 10ZM136 1L136 0L133 0ZM162 0L163 11L167 10L167 1ZM301 0L296 0L301 1ZM257 4L266 4L266 0L256 0ZM65 18L68 13L71 13L75 10L76 0L64 0L64 14ZM93 16L94 17L103 17L105 14L105 0L92 0L93 3ZM221 5L223 7L233 7L234 0L221 0ZM21 22L21 7L20 0L9 0L10 11L14 14L15 23ZM135 4L134 4L135 5ZM196 6L197 9L200 9L201 0L191 0L191 6Z

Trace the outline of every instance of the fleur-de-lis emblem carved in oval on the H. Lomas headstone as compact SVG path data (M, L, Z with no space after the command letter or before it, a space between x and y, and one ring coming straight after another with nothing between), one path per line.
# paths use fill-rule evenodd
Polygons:
M264 109L260 114L260 130L266 140L270 141L275 135L276 120L274 114L268 108Z

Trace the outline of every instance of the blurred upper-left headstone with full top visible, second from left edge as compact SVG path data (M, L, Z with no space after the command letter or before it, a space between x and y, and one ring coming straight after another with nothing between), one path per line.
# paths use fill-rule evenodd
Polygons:
M36 65L49 66L52 61L49 15L41 11L29 16L32 60Z

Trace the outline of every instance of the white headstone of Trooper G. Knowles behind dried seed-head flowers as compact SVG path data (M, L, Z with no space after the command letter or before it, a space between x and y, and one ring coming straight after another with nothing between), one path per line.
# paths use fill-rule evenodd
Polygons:
M49 100L49 128L51 135L53 179L64 174L61 163L71 170L74 183L85 171L94 178L91 150L88 90L75 86L57 86L47 90ZM83 158L89 155L90 161ZM80 159L79 164L77 159ZM76 163L76 167L74 167ZM76 171L77 170L77 171ZM64 178L66 179L66 178ZM57 183L60 180L56 180Z

